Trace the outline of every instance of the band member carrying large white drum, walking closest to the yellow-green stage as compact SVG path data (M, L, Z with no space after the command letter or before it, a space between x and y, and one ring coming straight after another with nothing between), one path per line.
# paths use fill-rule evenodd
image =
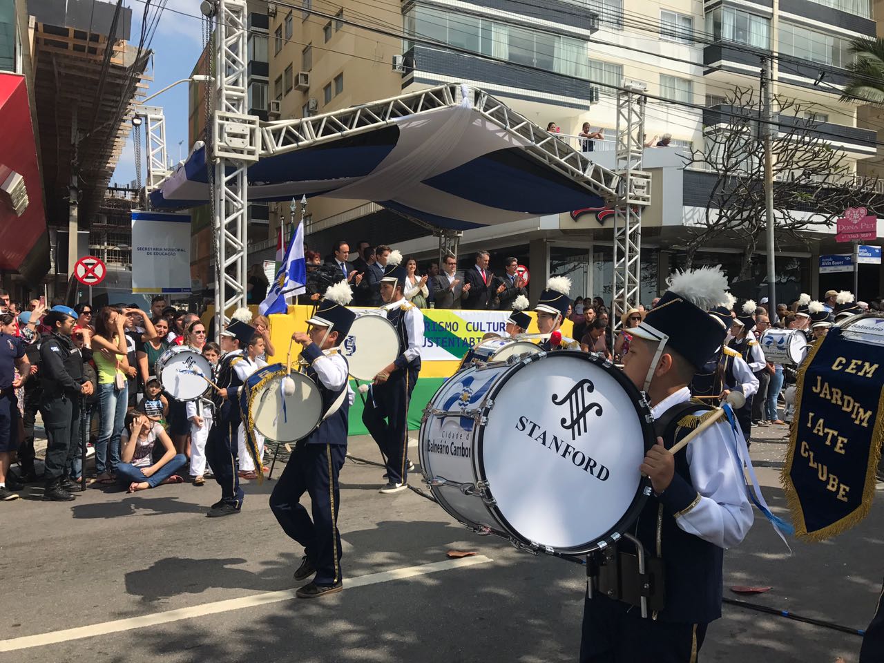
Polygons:
M402 294L407 274L401 261L400 252L392 251L380 284L385 301L380 310L399 333L399 356L377 374L362 410L362 423L384 454L387 483L380 490L383 493L408 488L408 401L421 370L423 347L423 315Z

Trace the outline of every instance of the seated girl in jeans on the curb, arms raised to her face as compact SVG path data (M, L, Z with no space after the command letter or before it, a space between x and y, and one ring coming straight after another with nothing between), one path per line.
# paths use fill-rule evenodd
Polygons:
M163 445L165 453L159 461L151 462L157 441ZM120 461L117 482L128 486L126 492L145 491L159 484L184 483L175 472L184 467L187 457L183 453L176 454L163 426L150 421L141 412L126 415L126 425L120 437Z

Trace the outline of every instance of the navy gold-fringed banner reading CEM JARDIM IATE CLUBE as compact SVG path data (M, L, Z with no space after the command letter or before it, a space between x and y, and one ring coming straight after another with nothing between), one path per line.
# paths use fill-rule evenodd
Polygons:
M884 319L833 327L798 371L781 484L796 537L822 541L868 514L884 431Z

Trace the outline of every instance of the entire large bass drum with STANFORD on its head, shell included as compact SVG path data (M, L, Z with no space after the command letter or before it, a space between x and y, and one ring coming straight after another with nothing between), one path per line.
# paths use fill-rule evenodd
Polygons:
M651 410L621 370L561 350L469 366L424 410L421 469L470 529L550 554L621 537L651 493Z

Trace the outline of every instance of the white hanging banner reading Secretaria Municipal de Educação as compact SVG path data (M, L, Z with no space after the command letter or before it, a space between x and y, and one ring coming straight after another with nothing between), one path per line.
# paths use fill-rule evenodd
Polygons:
M190 215L132 210L132 292L190 288Z

